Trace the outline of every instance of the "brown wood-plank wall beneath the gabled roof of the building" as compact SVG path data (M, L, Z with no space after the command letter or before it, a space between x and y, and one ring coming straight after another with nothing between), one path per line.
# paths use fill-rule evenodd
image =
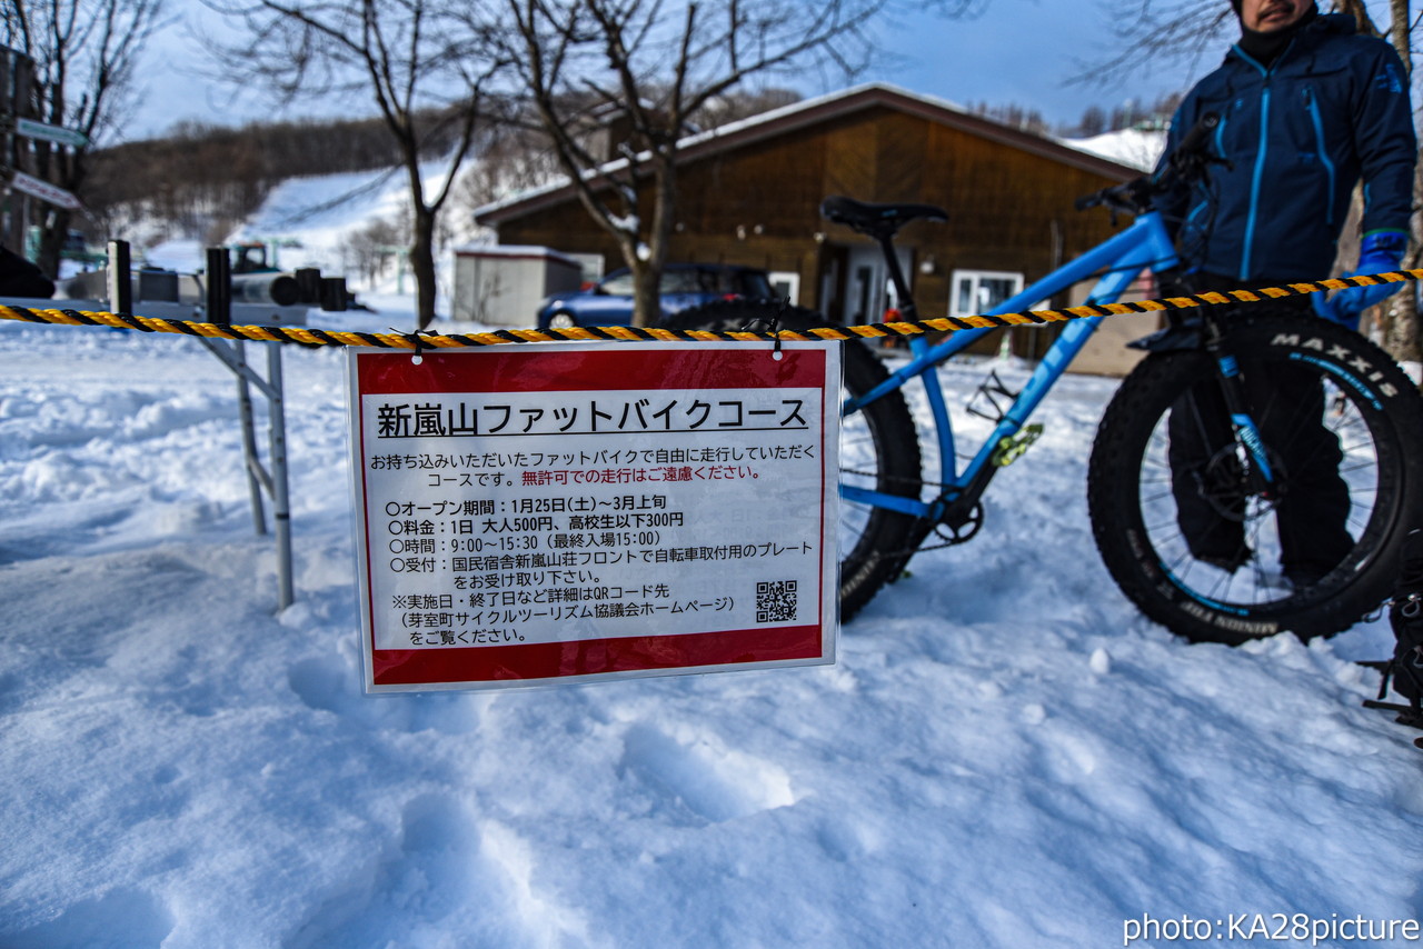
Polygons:
M670 258L793 270L801 275L803 302L817 306L820 275L842 255L838 249L867 243L822 221L821 198L935 203L949 212L948 225L915 222L899 243L915 262L911 280L921 314L941 316L955 269L1020 272L1032 282L1110 236L1106 212L1073 211L1079 195L1106 184L1113 182L922 115L875 107L689 162L680 174ZM576 201L508 221L499 239L603 253L608 269L622 266L616 243ZM918 263L931 258L931 272L921 273ZM1049 336L1025 341L1025 354L1039 351Z

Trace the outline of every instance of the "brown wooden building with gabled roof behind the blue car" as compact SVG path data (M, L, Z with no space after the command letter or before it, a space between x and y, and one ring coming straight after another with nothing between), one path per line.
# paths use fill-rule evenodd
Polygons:
M766 267L793 302L828 322L874 323L894 304L879 252L824 221L820 202L925 202L945 208L949 222L914 222L898 240L921 314L982 313L1110 236L1106 211L1079 213L1073 201L1136 174L941 100L865 85L689 138L669 260ZM622 266L616 243L566 185L477 216L499 243ZM1049 336L1016 334L1013 349L1037 356Z

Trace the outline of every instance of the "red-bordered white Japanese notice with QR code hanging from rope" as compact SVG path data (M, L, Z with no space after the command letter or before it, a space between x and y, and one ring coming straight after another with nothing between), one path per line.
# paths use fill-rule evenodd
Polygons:
M350 357L367 691L834 662L834 343Z

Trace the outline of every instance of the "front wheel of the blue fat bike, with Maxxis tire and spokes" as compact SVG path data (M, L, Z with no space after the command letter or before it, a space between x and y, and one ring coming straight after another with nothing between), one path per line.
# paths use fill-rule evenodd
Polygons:
M1231 512L1242 522L1248 559L1227 572L1191 555L1177 519L1167 417L1217 369L1204 351L1177 351L1143 360L1103 415L1087 481L1097 549L1127 598L1185 639L1235 646L1284 630L1306 642L1331 636L1387 599L1403 538L1423 526L1414 522L1423 516L1423 398L1383 350L1325 320L1242 317L1229 327L1229 346L1244 378L1282 367L1318 377L1325 424L1343 454L1353 548L1316 580L1291 583L1278 563L1274 501L1251 495L1241 479ZM1261 421L1285 407L1249 411ZM1222 452L1244 458L1238 447ZM1289 491L1288 471L1281 491Z

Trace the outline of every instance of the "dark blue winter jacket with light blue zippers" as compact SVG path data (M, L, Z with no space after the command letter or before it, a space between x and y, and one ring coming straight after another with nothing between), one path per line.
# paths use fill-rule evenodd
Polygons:
M1229 164L1158 202L1187 270L1257 286L1329 276L1360 176L1363 233L1407 232L1417 155L1407 78L1353 17L1315 18L1269 68L1232 46L1177 110L1167 155L1205 112L1221 117L1212 152Z

